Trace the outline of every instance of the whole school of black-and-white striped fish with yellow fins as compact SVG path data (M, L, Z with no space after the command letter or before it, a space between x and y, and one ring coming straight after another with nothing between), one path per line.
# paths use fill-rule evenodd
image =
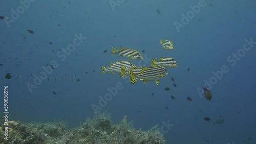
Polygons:
M170 40L160 40L160 44L164 50L173 50L173 43ZM111 55L119 54L120 57L126 57L129 60L141 60L142 55L133 49L121 48L116 50L112 47ZM109 64L109 67L101 66L102 74L110 71L110 74L120 73L120 77L129 76L131 83L134 84L137 80L147 83L147 81L155 81L159 84L159 80L168 75L168 67L177 67L178 63L170 57L161 57L158 60L152 58L151 67L136 66L130 61L117 61Z

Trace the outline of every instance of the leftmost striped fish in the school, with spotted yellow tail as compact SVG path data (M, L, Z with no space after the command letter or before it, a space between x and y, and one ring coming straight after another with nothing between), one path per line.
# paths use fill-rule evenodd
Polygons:
M105 74L106 71L111 71L110 74L114 74L114 72L121 72L122 67L129 70L130 68L135 67L135 65L129 61L113 62L109 65L109 67L101 66L102 74Z

